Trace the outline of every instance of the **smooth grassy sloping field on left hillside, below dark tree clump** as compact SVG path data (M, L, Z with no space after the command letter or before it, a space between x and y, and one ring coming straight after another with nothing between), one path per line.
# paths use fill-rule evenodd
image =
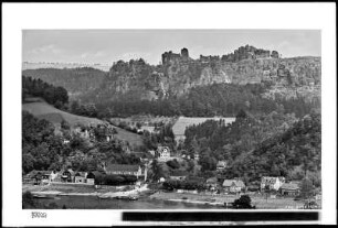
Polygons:
M60 126L62 120L67 121L73 127L78 123L85 126L87 124L95 126L98 123L103 123L102 120L96 118L81 117L59 110L44 101L23 104L22 110L31 112L33 116L35 116L39 119L49 120L50 122L54 123L57 127ZM117 131L117 139L123 141L128 141L133 146L141 146L144 144L141 137L136 133L126 131L120 128L116 128L116 131Z

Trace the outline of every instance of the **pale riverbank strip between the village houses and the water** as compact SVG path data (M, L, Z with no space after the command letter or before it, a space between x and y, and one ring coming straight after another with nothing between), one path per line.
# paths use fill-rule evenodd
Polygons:
M23 185L22 193L31 192L38 196L63 196L63 197L95 197L102 199L113 199L119 196L137 196L140 199L148 200L149 208L154 205L167 205L167 204L183 204L191 205L191 207L210 206L210 207L223 207L224 203L233 203L240 195L210 195L210 194L191 194L191 193L177 193L177 192L155 192L148 188L147 185L142 185L140 188L135 186L104 186L95 188L87 185ZM155 192L155 193L154 193ZM252 205L256 209L300 209L304 206L303 200L294 200L293 198L265 198L264 196L251 195ZM149 203L151 202L151 204ZM167 204L162 204L166 202ZM144 203L145 204L145 203ZM321 206L320 202L317 202ZM151 205L151 206L150 206ZM108 205L107 205L108 206ZM110 206L109 206L110 207Z

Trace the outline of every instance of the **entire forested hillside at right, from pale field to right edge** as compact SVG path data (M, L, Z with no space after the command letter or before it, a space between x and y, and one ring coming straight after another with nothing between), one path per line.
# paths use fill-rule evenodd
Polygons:
M209 120L186 130L183 149L200 153L200 163L215 171L215 162L224 160L229 178L246 183L262 176L285 176L288 180L311 178L320 183L321 122L311 111L304 118L285 115L283 109L270 115L253 116L240 111L230 126Z

